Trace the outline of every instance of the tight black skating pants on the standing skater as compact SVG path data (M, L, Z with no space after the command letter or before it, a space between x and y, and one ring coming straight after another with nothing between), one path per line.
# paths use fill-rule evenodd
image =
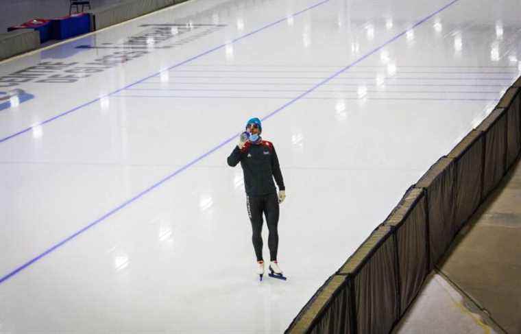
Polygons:
M276 261L278 250L278 196L270 193L263 196L246 195L246 206L250 222L252 222L252 241L257 261L263 261L263 213L269 230L268 248L271 261Z

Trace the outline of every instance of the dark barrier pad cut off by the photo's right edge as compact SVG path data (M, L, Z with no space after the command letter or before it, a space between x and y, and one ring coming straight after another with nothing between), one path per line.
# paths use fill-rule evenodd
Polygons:
M516 161L521 150L521 88L516 87L516 84L520 84L519 79L498 104L498 108L507 110L507 168Z

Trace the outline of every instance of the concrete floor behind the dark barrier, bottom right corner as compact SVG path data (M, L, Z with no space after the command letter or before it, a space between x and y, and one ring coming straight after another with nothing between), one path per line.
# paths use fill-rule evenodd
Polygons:
M394 333L521 333L521 164L457 235Z

